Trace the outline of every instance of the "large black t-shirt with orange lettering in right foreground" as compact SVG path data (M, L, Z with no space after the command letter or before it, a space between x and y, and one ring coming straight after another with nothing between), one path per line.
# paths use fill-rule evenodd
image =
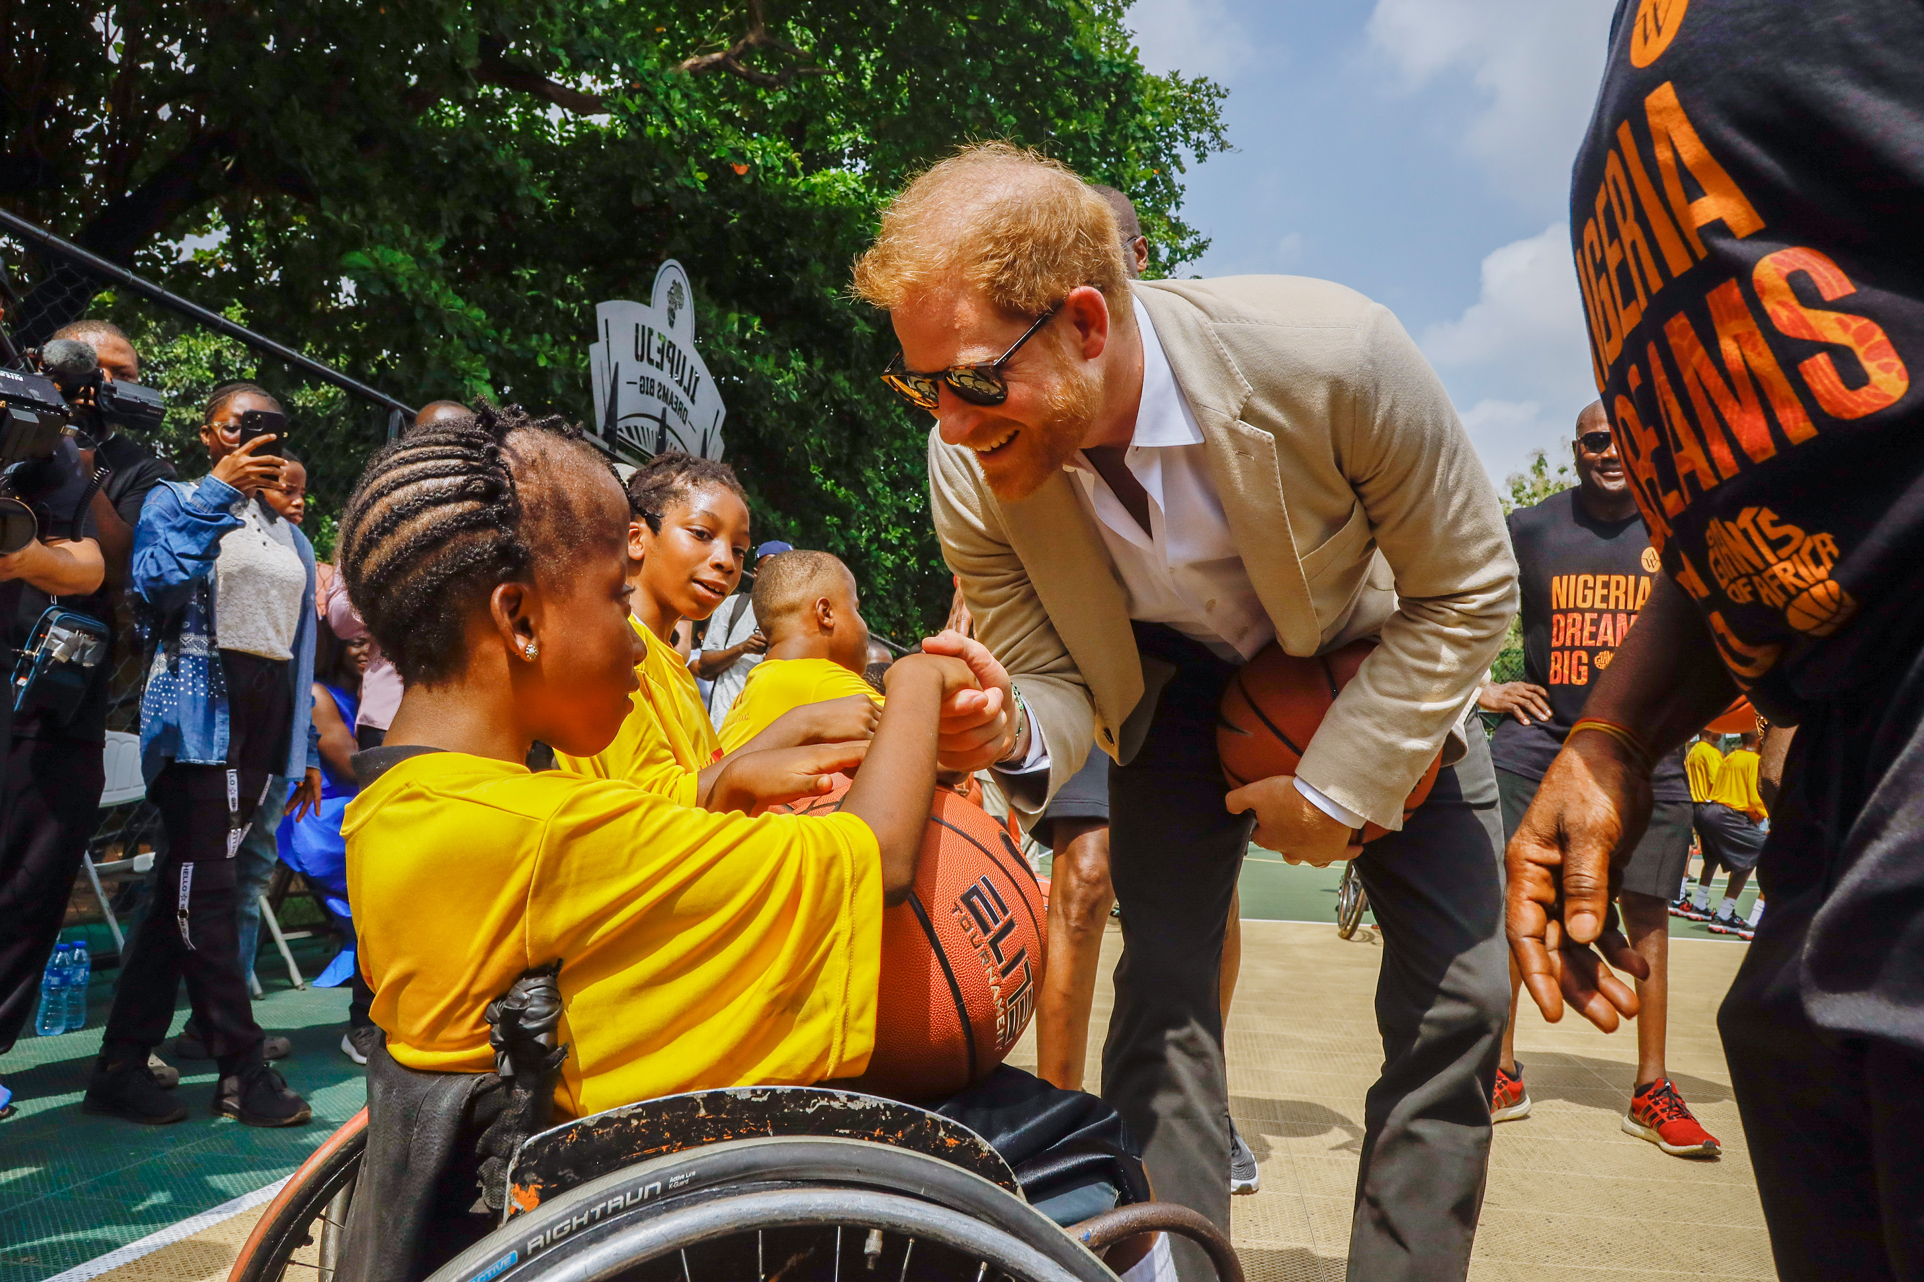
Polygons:
M1924 638L1918 50L1918 0L1618 0L1572 175L1651 542L1774 721Z

